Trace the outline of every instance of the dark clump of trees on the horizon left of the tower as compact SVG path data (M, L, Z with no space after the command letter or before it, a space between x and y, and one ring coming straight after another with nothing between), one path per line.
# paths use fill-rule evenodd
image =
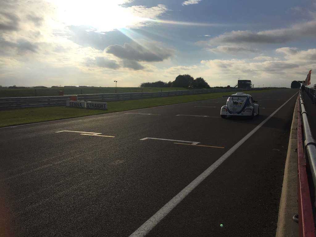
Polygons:
M185 88L210 88L203 77L193 78L189 74L179 75L171 82L143 82L140 87L185 87Z

